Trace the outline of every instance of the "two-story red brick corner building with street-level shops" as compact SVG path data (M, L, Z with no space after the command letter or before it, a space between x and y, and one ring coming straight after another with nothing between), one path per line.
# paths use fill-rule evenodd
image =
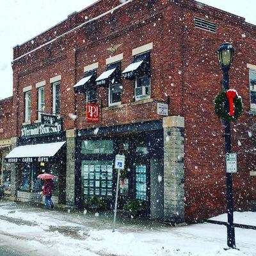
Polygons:
M49 145L57 148L49 156L20 163L24 171L17 179L53 172L60 177L60 204L83 205L88 196L111 204L113 160L121 153L127 162L120 207L131 198L144 200L151 218L175 221L225 212L223 124L212 102L222 81L216 49L228 41L236 49L230 87L244 104L232 124L232 150L239 153L234 201L236 209L250 209L256 200L248 136L255 123L256 63L248 49L255 33L243 18L196 1L102 0L17 45L13 115L19 147L59 143ZM86 122L86 102L99 106L99 123ZM59 128L40 126L43 112L58 115ZM22 150L9 159L29 157ZM28 192L40 188L36 179L23 178L13 193L37 198L36 189Z

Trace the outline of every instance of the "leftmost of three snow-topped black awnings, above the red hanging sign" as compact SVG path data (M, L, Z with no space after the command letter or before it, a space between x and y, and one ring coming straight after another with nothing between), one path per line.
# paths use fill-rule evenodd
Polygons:
M88 71L84 74L83 78L79 80L74 85L74 91L77 92L86 92L91 88L95 88L96 82L95 79L97 77L96 70Z

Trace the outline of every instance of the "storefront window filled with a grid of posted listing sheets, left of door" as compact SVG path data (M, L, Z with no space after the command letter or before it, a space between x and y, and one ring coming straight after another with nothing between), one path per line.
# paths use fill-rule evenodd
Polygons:
M82 161L81 168L84 196L113 196L112 161Z

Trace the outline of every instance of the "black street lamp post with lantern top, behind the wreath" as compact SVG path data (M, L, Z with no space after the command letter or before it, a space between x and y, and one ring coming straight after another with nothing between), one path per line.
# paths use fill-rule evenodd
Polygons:
M220 67L223 71L223 91L227 92L229 90L229 77L228 71L232 60L234 57L234 48L229 43L221 44L217 51L218 61ZM228 100L225 102L225 111L229 113ZM226 154L231 152L231 141L230 141L230 122L224 120L225 125L225 151ZM227 168L227 166L226 166ZM234 217L233 217L233 191L232 191L232 173L226 172L227 180L227 213L228 213L228 223L227 223L227 245L230 248L236 248L235 239L235 228L234 228Z

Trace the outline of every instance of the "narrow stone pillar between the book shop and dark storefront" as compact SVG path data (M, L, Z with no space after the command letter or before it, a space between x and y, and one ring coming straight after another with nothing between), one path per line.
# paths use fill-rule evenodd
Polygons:
M75 206L76 130L67 130L66 204Z

